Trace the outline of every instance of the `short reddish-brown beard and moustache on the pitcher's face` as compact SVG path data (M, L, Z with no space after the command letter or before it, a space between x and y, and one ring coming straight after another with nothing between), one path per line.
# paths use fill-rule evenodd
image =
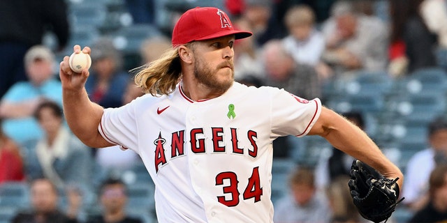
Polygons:
M228 66L231 68L231 77L223 80L217 78L217 72L221 68L226 68ZM200 84L203 84L214 91L222 93L227 91L230 86L233 85L234 75L233 63L229 61L219 64L217 69L212 69L208 63L205 63L201 59L197 59L195 62L194 77L196 77Z

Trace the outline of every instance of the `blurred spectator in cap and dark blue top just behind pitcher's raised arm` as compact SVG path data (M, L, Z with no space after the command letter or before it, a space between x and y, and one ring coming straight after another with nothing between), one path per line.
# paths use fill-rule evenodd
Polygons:
M122 53L108 38L99 38L91 47L91 74L85 89L92 102L103 107L119 107L131 76L123 70Z

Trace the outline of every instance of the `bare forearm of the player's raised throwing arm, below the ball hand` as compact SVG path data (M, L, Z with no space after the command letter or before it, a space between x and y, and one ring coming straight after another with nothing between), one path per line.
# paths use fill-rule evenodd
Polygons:
M64 89L62 96L64 116L73 134L92 148L110 146L98 132L103 107L91 102L85 89L80 91Z

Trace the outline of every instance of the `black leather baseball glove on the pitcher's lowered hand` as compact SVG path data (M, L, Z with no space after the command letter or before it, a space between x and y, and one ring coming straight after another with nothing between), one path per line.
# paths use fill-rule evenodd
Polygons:
M388 220L399 201L399 185L385 178L374 168L360 160L354 160L351 166L349 190L351 197L362 217L372 222Z

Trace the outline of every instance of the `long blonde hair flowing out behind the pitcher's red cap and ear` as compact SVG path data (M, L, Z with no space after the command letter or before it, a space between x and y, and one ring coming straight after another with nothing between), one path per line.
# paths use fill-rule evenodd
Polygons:
M168 95L175 90L182 76L182 66L178 53L179 47L166 50L161 57L147 66L135 68L135 84L145 93Z

